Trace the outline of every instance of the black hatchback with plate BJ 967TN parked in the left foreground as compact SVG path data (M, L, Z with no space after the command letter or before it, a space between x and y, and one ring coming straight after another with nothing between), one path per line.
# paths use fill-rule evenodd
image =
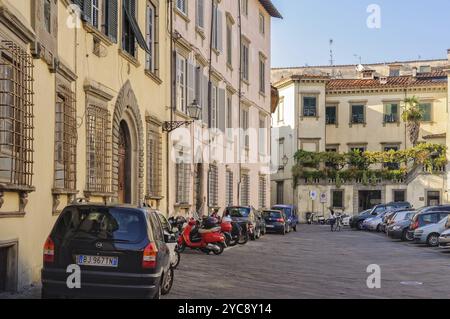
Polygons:
M68 206L44 246L42 297L158 299L172 287L175 240L147 208ZM81 269L79 289L67 287L70 265Z

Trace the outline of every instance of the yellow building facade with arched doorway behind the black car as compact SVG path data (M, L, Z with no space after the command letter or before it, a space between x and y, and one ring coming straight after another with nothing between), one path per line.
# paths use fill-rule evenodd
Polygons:
M39 281L75 198L166 211L166 21L161 0L0 1L0 291Z

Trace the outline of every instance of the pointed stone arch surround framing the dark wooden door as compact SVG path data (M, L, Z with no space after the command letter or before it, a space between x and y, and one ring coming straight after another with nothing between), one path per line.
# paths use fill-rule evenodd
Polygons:
M137 103L136 95L131 87L130 81L127 81L117 96L116 105L114 108L113 123L112 123L112 190L115 199L117 200L118 183L119 183L119 137L120 137L120 123L125 119L125 113L132 117L136 129L137 141L137 194L138 203L143 203L144 199L144 125L142 122L139 105ZM131 128L130 128L131 129Z

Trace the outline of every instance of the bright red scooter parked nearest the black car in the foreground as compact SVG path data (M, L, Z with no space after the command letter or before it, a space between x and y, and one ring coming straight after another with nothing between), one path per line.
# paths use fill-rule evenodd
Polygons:
M211 252L220 255L226 247L225 237L220 227L201 228L200 223L192 218L178 238L178 251L183 252L186 247L198 249L208 255Z

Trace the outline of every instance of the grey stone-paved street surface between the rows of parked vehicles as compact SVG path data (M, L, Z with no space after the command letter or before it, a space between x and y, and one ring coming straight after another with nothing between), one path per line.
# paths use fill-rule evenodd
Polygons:
M381 267L369 289L367 266ZM376 233L326 226L266 235L221 256L187 251L175 273L173 299L450 298L450 253ZM421 284L418 284L421 283ZM39 298L39 286L0 298Z

